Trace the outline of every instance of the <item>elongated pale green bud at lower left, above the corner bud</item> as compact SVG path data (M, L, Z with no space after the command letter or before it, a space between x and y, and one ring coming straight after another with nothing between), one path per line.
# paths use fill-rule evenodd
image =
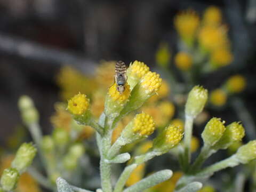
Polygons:
M24 172L32 163L36 151L37 149L33 146L33 143L23 143L15 155L12 167L17 169L20 173Z

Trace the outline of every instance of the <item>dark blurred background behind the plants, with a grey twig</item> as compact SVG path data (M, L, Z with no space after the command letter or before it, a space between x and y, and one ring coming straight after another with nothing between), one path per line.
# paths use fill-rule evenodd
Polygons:
M55 75L63 65L92 73L101 59L140 60L155 66L155 52L165 41L175 52L173 17L189 7L202 13L217 5L229 27L235 62L231 73L247 79L241 95L256 112L256 1L85 1L0 0L0 140L21 123L17 100L34 99L44 132L51 129L53 104L59 101ZM210 74L207 89L229 74ZM224 110L218 113L225 119Z

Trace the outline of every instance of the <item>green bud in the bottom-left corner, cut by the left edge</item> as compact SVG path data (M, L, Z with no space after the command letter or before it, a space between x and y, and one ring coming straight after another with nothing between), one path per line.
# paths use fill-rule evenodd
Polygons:
M1 177L1 186L5 191L11 191L16 188L19 180L19 172L14 168L5 169Z

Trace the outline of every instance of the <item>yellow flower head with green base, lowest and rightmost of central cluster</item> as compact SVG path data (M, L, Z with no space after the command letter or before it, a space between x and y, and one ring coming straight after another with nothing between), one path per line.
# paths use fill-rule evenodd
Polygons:
M178 145L182 137L183 132L179 127L169 125L154 139L153 149L166 153Z

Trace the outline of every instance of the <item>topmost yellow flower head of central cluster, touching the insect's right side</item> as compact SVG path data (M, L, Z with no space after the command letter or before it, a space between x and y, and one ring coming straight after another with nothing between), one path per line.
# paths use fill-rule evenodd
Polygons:
M140 81L140 78L147 74L149 67L145 63L140 61L134 61L130 64L129 68L126 71L127 74L127 83L133 87Z

